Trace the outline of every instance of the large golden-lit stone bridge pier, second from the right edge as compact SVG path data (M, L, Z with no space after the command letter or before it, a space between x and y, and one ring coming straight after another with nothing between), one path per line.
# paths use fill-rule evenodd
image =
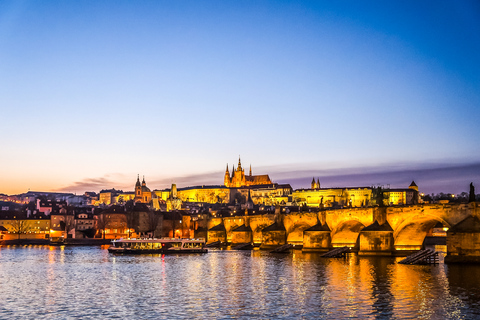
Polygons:
M358 255L390 256L394 249L393 229L385 222L373 224L360 231Z

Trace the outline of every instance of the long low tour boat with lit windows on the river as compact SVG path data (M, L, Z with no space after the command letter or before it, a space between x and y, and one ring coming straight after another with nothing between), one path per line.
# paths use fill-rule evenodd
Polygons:
M108 248L111 253L207 253L205 239L118 239Z

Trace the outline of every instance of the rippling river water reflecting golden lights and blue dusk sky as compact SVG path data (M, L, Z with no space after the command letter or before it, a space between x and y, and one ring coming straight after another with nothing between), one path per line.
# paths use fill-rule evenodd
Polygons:
M475 319L480 266L296 251L1 247L1 319Z

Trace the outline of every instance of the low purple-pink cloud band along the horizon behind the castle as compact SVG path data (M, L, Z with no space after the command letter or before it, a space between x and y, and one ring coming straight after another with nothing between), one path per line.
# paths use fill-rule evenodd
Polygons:
M293 165L292 165L293 167ZM297 167L298 168L298 167ZM255 168L254 174L269 174L274 182L289 183L294 189L308 188L312 177L319 178L322 187L390 186L406 188L415 180L421 192L460 193L468 191L470 182L480 188L480 162L467 164L388 164L375 167L309 170L289 170L288 166ZM222 185L224 171L214 171L187 176L152 177L147 186L154 189L199 185ZM102 189L132 191L136 177L115 173L97 178L86 178L57 191L83 193Z

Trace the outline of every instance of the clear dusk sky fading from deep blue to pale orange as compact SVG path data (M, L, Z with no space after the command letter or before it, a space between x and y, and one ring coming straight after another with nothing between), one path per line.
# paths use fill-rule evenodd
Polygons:
M478 1L0 1L0 193L480 187Z

